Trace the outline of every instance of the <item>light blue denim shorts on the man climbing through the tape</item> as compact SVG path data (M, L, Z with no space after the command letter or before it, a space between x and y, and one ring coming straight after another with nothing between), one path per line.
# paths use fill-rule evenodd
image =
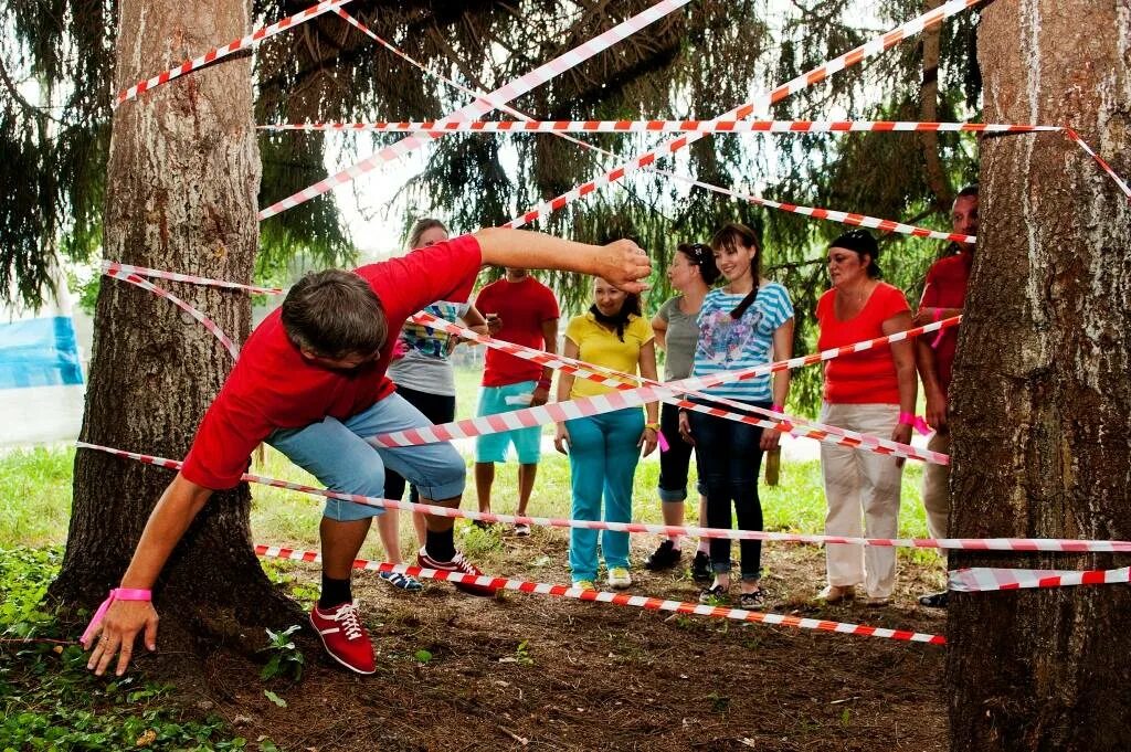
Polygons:
M392 394L346 421L326 417L301 429L279 429L267 443L287 456L330 491L385 496L385 468L396 470L428 500L463 495L467 468L447 442L418 447L377 447L369 439L382 433L432 425L404 397ZM326 500L326 517L348 522L375 517L380 507Z

